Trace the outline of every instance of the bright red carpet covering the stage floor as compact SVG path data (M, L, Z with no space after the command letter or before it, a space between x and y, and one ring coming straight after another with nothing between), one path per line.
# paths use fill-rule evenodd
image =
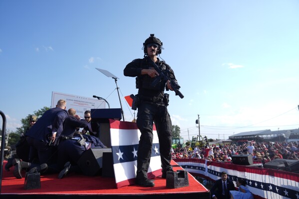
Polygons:
M176 164L172 161L173 164ZM6 161L3 162L5 166ZM190 194L205 193L209 191L188 174L189 186L177 189L166 188L166 179L161 177L154 178L155 187L143 188L139 186L126 186L116 189L115 179L101 176L88 177L81 174L69 173L63 179L58 179L58 174L44 175L40 177L40 189L24 190L24 176L22 179L16 179L13 176L14 167L7 172L3 167L1 195L161 195L161 194ZM174 170L182 170L180 167L174 167Z

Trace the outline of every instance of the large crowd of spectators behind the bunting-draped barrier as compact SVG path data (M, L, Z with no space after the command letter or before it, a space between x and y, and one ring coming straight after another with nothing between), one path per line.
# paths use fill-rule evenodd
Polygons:
M233 155L252 154L253 160L271 161L274 159L299 160L298 142L262 142L262 143L243 143L225 145L208 145L205 147L191 148L186 146L183 148L172 149L173 159L206 159L214 162L232 161Z

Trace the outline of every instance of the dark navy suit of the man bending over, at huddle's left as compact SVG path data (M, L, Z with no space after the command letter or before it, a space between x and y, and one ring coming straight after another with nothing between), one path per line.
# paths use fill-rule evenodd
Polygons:
M63 121L67 116L68 113L64 109L57 107L49 109L28 130L26 136L30 145L30 160L32 160L33 151L37 151L40 164L48 164L50 162L49 159L51 157L54 158L52 156L53 148L48 146L50 142L48 137L52 135L52 131L57 132L56 137L59 137L63 129Z

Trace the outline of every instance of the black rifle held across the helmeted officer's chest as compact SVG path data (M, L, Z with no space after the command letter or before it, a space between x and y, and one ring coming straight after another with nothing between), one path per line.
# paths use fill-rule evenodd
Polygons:
M181 86L173 79L170 79L168 77L168 69L165 71L166 74L157 66L157 64L151 59L151 64L154 66L154 69L159 73L159 77L157 77L153 82L152 82L152 86L155 87L157 85L157 83L161 80L164 79L165 81L170 81L170 86L172 87L172 89L174 90L175 94L180 96L181 99L184 98L184 95L179 91L179 89L181 88ZM168 87L166 86L166 90L168 91Z

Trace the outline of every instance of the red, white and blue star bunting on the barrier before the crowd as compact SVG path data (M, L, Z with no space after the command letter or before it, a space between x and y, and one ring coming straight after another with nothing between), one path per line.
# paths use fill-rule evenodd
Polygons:
M299 174L197 159L175 161L189 173L213 181L220 179L221 172L226 172L234 183L241 178L247 182L251 193L259 198L299 199Z

